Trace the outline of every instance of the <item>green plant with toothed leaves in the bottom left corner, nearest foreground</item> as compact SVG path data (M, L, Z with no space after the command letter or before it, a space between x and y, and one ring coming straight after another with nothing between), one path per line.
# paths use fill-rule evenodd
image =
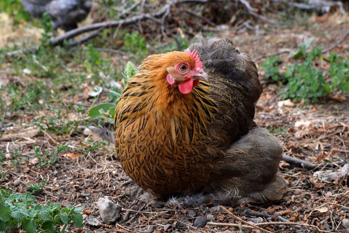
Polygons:
M68 224L81 228L83 206L68 205L60 210L61 204L35 204L35 197L29 192L10 194L0 190L0 231L26 231L27 233L64 232ZM60 229L59 226L63 226Z

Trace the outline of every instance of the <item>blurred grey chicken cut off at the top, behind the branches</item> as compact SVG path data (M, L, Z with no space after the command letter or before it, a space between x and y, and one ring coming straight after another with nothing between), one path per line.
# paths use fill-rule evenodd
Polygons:
M21 0L22 5L31 16L41 18L45 12L52 17L53 30L62 28L69 31L77 28L89 14L91 0Z

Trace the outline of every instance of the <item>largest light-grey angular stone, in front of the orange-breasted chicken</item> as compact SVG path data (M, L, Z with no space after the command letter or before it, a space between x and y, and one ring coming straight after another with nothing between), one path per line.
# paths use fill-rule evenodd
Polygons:
M99 198L96 204L103 223L110 225L120 218L121 205L114 204L108 197Z

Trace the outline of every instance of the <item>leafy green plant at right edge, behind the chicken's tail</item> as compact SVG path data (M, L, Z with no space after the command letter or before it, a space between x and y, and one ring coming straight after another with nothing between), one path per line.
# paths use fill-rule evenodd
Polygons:
M284 74L280 74L277 65L281 59L274 56L261 64L265 71L265 77L274 81L286 83L280 93L283 99L294 101L305 100L307 104L310 101L318 101L319 97L327 96L333 90L342 90L349 93L349 57L343 60L336 53L330 54L328 59L322 58L321 47L314 47L309 53L306 50L312 43L310 38L304 44L298 46L298 50L293 53L294 58L305 58L302 63L290 65ZM328 73L331 76L331 85L326 82L324 73L314 66L315 59L324 59L330 63Z

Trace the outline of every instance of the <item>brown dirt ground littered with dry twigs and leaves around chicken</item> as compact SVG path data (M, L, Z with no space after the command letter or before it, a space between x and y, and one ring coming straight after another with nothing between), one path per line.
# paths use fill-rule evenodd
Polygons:
M216 31L214 36L232 39L240 51L256 58L282 49L294 50L309 37L315 37L315 46L327 48L349 29L348 19L343 19L344 22L340 20L337 15L312 16L307 24L292 29L269 27L258 32L225 30ZM349 37L333 51L347 57ZM324 57L328 55L324 54ZM284 61L290 60L287 56L281 55ZM257 63L260 65L262 61ZM325 62L319 64L320 67L325 65ZM0 75L3 79L10 78L6 70L2 70ZM17 79L20 78L12 77L12 81ZM309 169L281 161L279 173L289 181L289 191L280 202L224 207L239 218L270 232L348 232L342 225L342 219L348 218L349 211L349 169L344 169L344 165L349 163L349 96L337 92L312 105L281 102L277 95L281 87L264 79L261 70L260 79L264 91L257 103L255 121L259 126L270 128L282 141L284 155L312 162L317 167ZM77 93L74 101L91 105L86 92ZM100 218L95 202L104 196L122 206L122 216L116 225L91 226L84 221L81 229L71 227L71 232L262 232L212 203L186 207L156 200L144 201L143 190L123 172L113 145L88 140L82 134L83 125L72 126L80 129L75 133L57 135L32 121L32 118L38 119L47 114L45 111L10 112L3 117L0 150L4 152L1 169L5 175L0 179L0 185L12 191L25 192L29 183L40 183L46 179L43 190L35 195L38 202L82 205L85 207L85 218L90 215ZM65 117L63 121L88 118L74 110ZM57 155L57 162L37 167L39 161L33 145L42 154ZM13 158L8 153L15 150L23 156L23 161L18 164L12 163ZM326 166L324 162L330 162L331 166ZM334 178L326 179L331 174ZM125 217L125 214L129 216ZM208 219L209 223L204 228L193 226L198 216ZM165 231L163 227L166 224L171 224L172 229Z

